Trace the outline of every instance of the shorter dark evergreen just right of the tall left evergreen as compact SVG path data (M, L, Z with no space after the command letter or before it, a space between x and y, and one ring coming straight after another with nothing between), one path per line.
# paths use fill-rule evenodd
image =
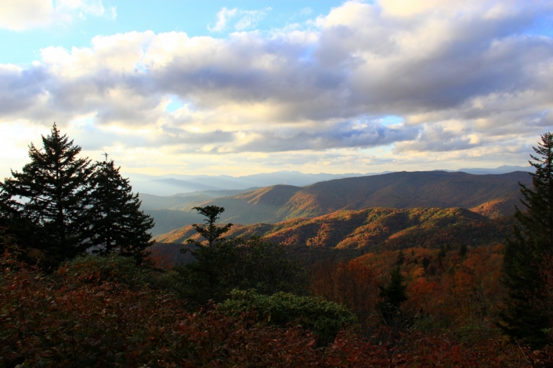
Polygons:
M93 253L117 252L133 256L141 264L147 255L146 248L152 244L148 231L153 220L140 211L138 194L133 195L129 180L121 177L119 171L108 155L104 162L95 165L88 209L88 242Z

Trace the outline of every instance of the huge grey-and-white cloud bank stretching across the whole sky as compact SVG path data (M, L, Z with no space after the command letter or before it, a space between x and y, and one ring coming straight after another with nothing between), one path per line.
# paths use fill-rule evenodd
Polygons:
M69 127L86 117L109 135L91 150L283 166L272 155L523 164L553 125L553 40L533 28L551 4L402 4L350 1L315 26L220 39L128 32L46 48L30 66L0 65L0 123ZM251 28L259 17L223 8L211 29ZM182 107L168 112L172 98ZM382 122L389 115L402 123Z

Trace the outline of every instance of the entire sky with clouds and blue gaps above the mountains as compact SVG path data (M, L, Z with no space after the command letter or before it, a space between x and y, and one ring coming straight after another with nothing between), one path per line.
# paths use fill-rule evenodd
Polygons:
M123 173L527 165L553 0L0 2L0 177L55 122Z

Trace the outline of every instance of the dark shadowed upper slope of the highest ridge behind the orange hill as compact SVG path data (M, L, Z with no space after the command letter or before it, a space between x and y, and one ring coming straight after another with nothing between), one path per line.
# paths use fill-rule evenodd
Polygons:
M283 212L288 212L290 218L368 207L471 208L505 196L514 197L519 192L518 182L530 184L530 175L521 171L502 175L422 171L351 177L306 186L290 198Z

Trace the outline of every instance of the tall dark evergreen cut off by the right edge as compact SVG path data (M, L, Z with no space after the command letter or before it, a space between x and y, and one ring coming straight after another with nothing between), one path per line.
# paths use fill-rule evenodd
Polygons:
M534 147L536 156L529 163L536 169L533 188L521 183L522 204L526 212L516 208L519 226L514 237L507 239L503 282L508 290L507 307L503 311L503 329L512 338L524 338L532 347L547 343L543 329L550 328L543 308L545 280L541 275L545 255L553 250L553 135L541 135Z

